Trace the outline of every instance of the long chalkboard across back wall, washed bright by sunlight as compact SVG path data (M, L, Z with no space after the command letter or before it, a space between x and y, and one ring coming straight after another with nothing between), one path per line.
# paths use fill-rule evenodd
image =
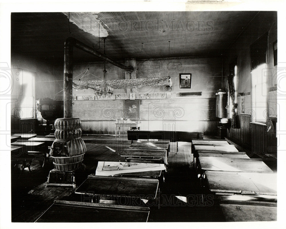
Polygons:
M215 98L73 101L73 116L81 120L216 120ZM130 104L129 104L130 103ZM128 116L129 107L137 109ZM138 116L139 114L139 116Z

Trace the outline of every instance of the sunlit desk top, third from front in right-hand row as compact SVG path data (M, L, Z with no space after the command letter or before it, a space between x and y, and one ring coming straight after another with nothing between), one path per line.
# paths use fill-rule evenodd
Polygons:
M261 159L199 157L198 160L202 170L233 172L273 172Z

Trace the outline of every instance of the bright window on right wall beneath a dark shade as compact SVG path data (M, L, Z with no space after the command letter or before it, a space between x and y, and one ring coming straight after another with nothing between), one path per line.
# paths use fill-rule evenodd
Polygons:
M252 121L265 122L267 117L267 65L261 64L251 71Z

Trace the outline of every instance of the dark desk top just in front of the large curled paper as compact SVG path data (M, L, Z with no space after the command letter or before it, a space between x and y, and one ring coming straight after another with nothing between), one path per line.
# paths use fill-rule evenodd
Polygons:
M75 193L114 197L138 196L150 200L156 198L158 185L157 179L88 176Z

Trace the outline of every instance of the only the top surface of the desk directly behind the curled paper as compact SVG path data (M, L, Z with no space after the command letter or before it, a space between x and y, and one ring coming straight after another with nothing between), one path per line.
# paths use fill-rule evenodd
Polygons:
M120 154L121 156L132 156L132 157L154 157L163 158L167 156L167 150L165 149L125 149Z

